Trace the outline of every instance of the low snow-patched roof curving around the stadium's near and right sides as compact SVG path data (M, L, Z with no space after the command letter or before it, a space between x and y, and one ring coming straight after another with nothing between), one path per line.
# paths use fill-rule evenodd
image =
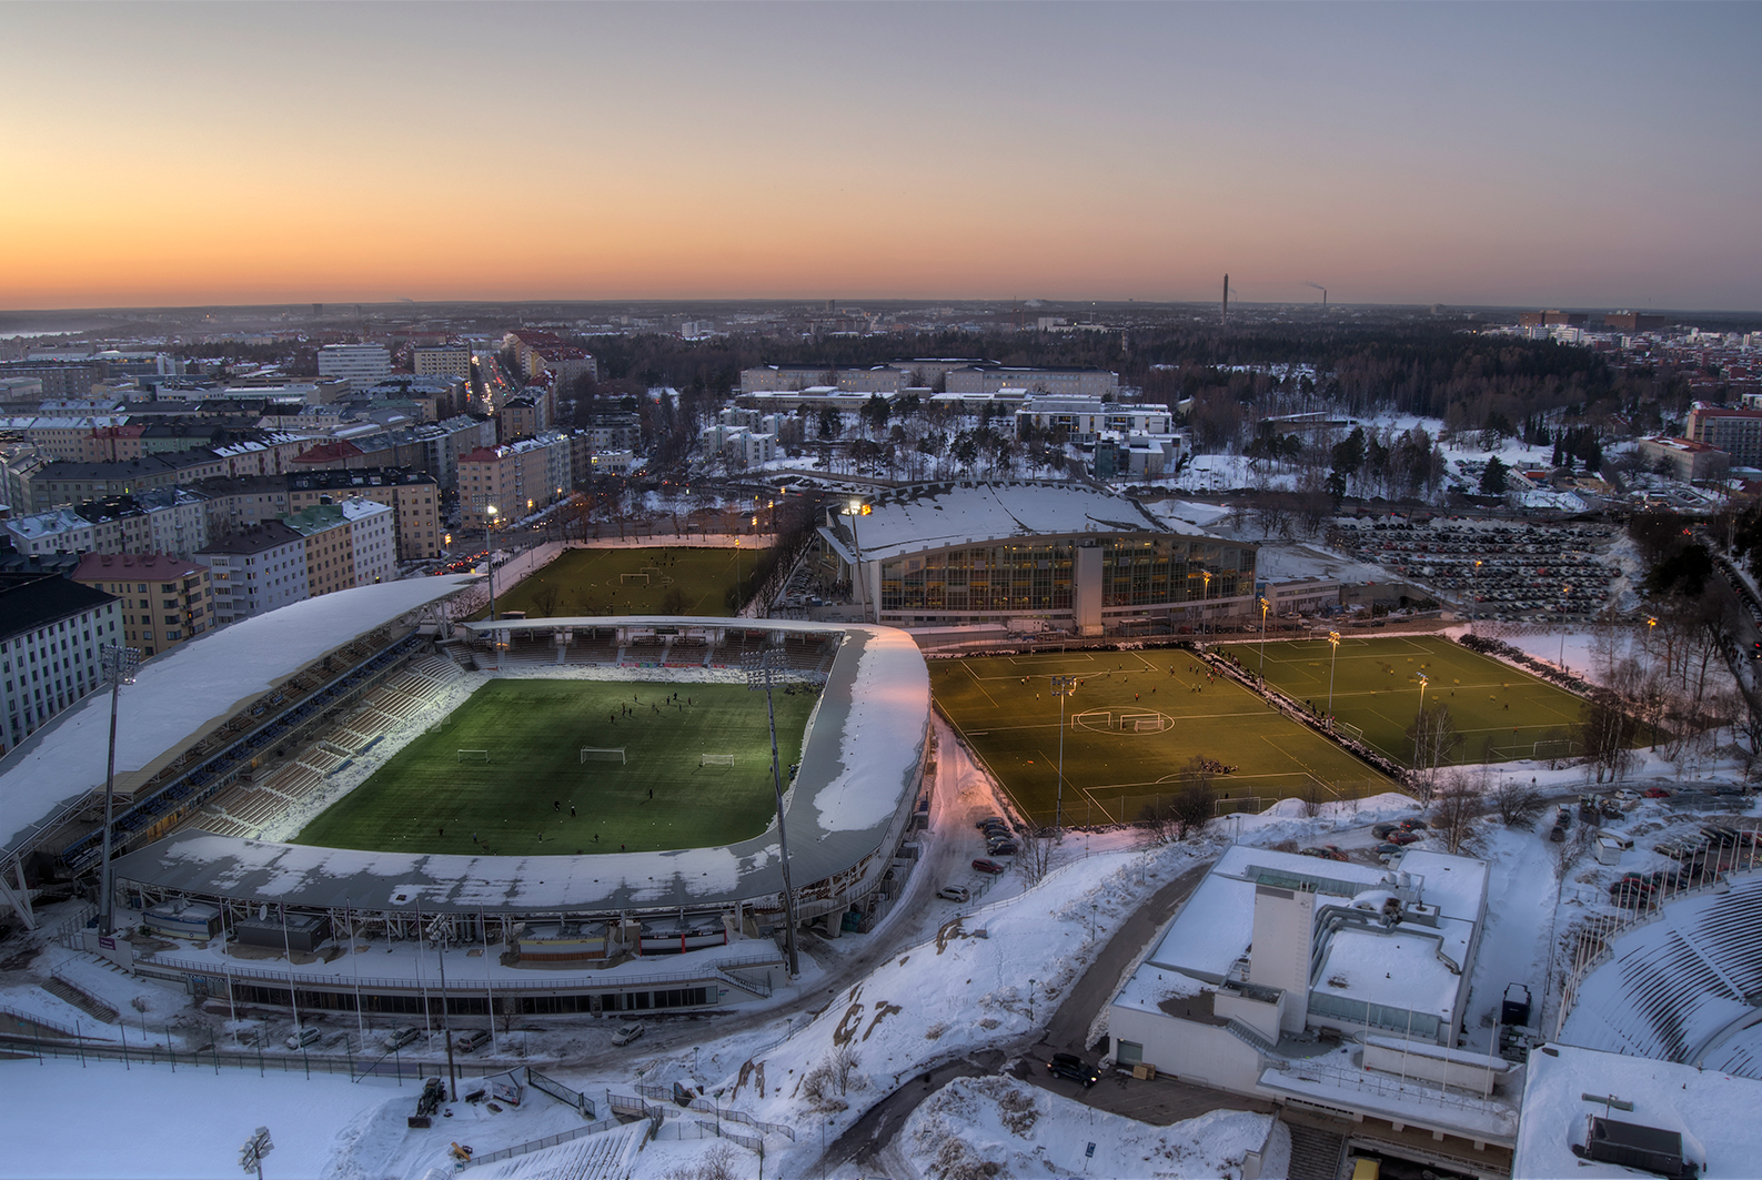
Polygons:
M802 747L784 815L796 888L833 877L876 852L911 807L930 717L930 675L918 645L890 627L786 620L543 618L507 629L559 625L747 625L844 632ZM488 627L481 623L478 627ZM640 680L636 675L633 680ZM458 856L365 852L189 831L122 858L116 877L196 896L303 907L425 912L606 912L728 905L777 893L775 822L724 847L594 856Z

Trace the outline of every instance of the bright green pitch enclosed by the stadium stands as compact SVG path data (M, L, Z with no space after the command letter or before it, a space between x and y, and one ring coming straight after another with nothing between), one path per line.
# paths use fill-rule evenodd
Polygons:
M678 706L668 703L673 692ZM786 775L802 757L814 699L811 690L775 696ZM583 764L581 747L624 747L627 761ZM460 750L488 750L490 761L460 761ZM700 768L700 754L733 754L735 764ZM765 697L745 685L492 680L294 844L490 856L620 845L652 852L745 840L775 814Z

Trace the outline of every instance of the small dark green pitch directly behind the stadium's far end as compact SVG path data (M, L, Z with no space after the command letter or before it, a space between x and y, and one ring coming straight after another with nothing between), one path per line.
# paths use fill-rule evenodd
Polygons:
M532 618L590 615L729 615L742 601L759 555L751 549L566 549L562 557L499 595L495 609ZM485 611L488 616L488 611Z

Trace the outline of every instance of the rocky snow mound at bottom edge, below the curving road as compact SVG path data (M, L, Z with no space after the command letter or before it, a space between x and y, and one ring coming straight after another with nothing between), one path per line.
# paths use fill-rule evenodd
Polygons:
M1219 1110L1154 1127L1013 1078L950 1081L906 1120L897 1143L920 1175L939 1180L1225 1176L1240 1175L1244 1157L1263 1147L1262 1175L1281 1176L1290 1159L1290 1132L1270 1115Z

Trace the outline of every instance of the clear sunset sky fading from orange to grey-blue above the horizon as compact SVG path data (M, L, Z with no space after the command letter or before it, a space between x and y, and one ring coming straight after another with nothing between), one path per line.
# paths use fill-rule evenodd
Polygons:
M1762 306L1753 5L9 5L0 306Z

